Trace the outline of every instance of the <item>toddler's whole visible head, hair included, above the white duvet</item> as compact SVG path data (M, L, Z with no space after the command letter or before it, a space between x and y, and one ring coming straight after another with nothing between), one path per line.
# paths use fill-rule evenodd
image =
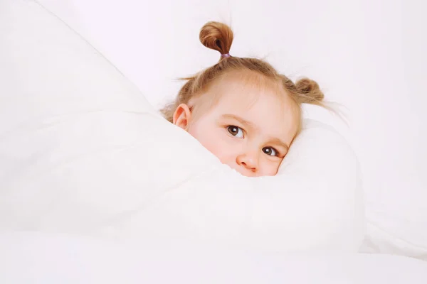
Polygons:
M300 132L301 105L323 105L319 86L294 84L263 60L230 56L233 32L223 23L206 23L200 41L221 59L186 78L162 113L242 175L275 175Z

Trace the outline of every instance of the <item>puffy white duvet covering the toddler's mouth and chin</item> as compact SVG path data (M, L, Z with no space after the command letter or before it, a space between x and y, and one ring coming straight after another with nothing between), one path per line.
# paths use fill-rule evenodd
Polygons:
M169 124L33 1L0 6L0 229L262 251L357 251L359 165L308 121L278 175L246 178Z

